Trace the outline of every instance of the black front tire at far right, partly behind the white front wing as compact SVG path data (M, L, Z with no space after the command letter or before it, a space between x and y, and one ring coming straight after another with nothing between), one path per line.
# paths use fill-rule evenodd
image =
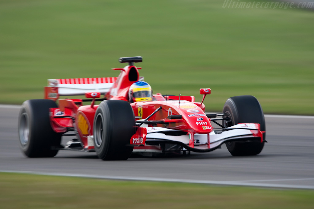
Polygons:
M224 105L223 113L228 114L230 120L225 121L225 127L238 123L259 123L261 131L266 131L263 109L253 96L230 97ZM227 142L226 146L233 156L257 155L263 147L266 133L263 133L263 142Z

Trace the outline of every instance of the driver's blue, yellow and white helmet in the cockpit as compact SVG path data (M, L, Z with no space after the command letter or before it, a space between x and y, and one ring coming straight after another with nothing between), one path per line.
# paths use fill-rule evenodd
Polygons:
M131 102L152 101L152 88L145 81L137 81L130 86L129 100Z

